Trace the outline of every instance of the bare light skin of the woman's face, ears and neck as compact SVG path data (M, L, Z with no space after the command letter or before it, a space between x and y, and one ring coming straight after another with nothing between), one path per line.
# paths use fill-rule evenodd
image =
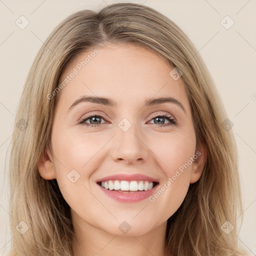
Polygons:
M93 49L76 57L60 81ZM131 44L97 49L59 92L52 152L41 155L38 170L45 179L56 178L71 208L74 256L165 256L167 219L182 203L189 184L199 179L206 149L196 145L188 97L182 80L169 75L171 66L152 51ZM111 98L117 105L81 101L69 109L85 95ZM167 96L184 109L173 102L145 105L147 99ZM88 114L102 117L90 116L79 123ZM166 116L157 120L162 114L174 118L176 124ZM131 125L126 131L118 126L123 118ZM98 126L88 126L95 121ZM200 156L174 180L176 170L196 152ZM73 169L76 178L79 175L75 182L67 178ZM120 202L105 195L95 182L117 173L145 174L158 179L159 188L164 184L167 188L154 201ZM171 185L166 185L169 178ZM131 227L127 233L118 228L123 221Z

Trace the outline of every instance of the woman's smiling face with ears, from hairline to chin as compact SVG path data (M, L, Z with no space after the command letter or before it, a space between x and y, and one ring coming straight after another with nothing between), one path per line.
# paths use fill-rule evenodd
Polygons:
M184 85L171 70L146 48L108 44L80 54L62 73L53 158L49 154L45 169L38 169L45 179L56 178L73 221L115 235L129 228L128 235L141 235L164 223L189 183L199 179L203 152L196 148ZM117 174L126 177L107 177ZM116 190L97 183L105 179ZM146 189L145 181L157 184L127 191L136 184ZM117 190L118 183L124 190Z

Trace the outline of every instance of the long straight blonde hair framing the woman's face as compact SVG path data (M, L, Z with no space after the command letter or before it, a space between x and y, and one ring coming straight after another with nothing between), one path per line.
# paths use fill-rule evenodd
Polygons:
M242 212L236 145L232 130L222 125L227 115L212 78L194 45L174 22L135 3L114 3L97 13L80 10L69 15L36 55L11 141L10 255L72 255L70 207L56 180L43 179L36 163L46 148L50 150L57 96L48 99L47 95L58 86L71 60L104 42L147 47L170 69L182 71L196 141L207 148L200 179L190 184L182 204L167 221L166 250L173 256L245 255L236 237L236 218ZM233 225L233 230L225 233L223 224ZM23 228L23 234L18 228Z

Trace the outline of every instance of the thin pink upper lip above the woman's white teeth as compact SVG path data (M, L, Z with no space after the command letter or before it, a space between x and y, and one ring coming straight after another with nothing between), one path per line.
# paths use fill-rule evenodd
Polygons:
M153 178L153 177L149 177L147 175L144 174L140 174L140 173L136 173L136 174L114 174L114 175L110 175L110 176L106 176L103 178L100 178L98 180L96 180L96 182L99 181L106 181L106 180L147 180L147 181L152 181L152 182L157 182L159 183L158 179Z

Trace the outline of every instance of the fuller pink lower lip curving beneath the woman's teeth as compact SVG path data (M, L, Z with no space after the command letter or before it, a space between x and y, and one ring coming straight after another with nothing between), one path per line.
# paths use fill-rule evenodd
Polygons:
M152 195L156 189L156 187L158 186L158 184L156 184L153 188L151 188L150 190L144 190L144 191L138 191L138 192L118 192L115 190L109 190L106 188L103 188L102 186L98 185L97 186L109 197L121 201L121 202L137 202L137 201L141 201L147 197L149 197L150 195Z

